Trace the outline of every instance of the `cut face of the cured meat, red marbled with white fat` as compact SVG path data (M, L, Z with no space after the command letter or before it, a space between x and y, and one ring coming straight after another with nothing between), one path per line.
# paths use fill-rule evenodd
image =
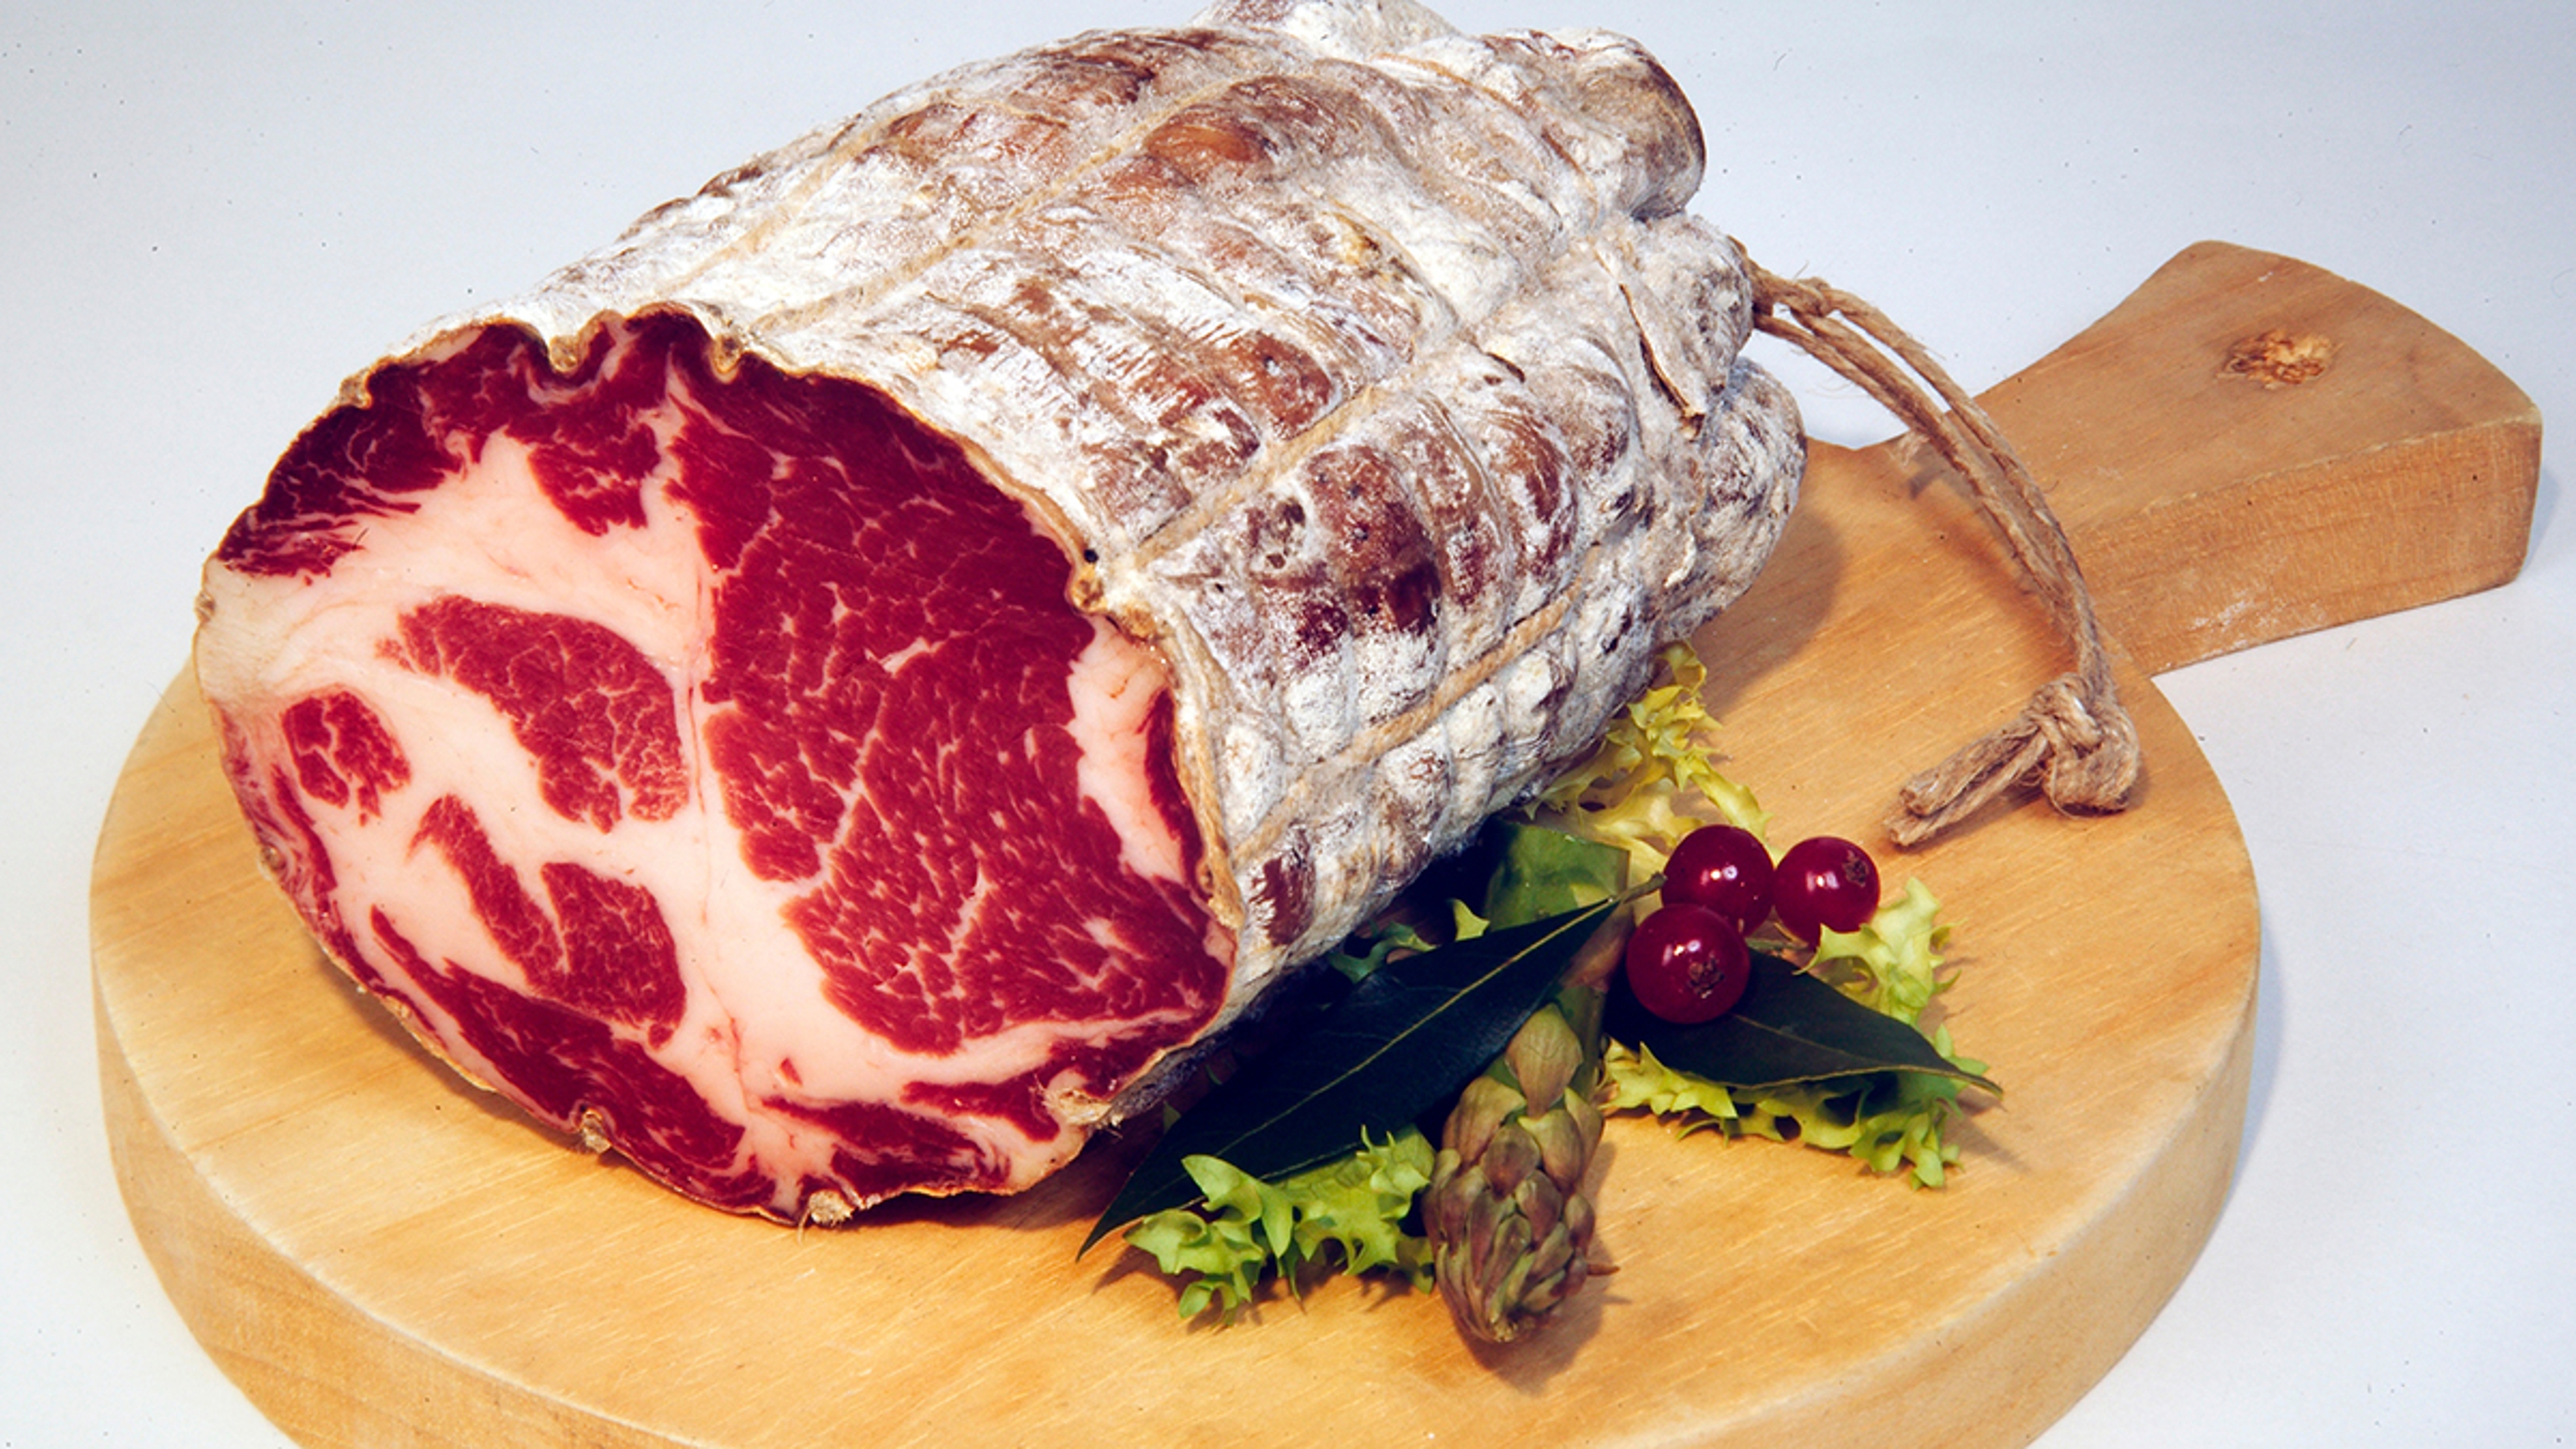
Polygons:
M953 441L708 356L487 327L317 423L209 572L227 768L546 1122L778 1217L1023 1186L1226 995L1164 663Z

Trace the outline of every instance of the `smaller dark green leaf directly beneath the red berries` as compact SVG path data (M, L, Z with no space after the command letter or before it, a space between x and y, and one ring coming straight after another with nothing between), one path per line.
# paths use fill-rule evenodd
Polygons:
M1734 1011L1700 1026L1674 1026L1638 1006L1625 985L1610 993L1602 1029L1646 1047L1677 1073L1718 1085L1767 1088L1868 1073L1932 1073L2002 1091L1932 1049L1922 1031L1860 1006L1780 957L1754 951L1754 977Z

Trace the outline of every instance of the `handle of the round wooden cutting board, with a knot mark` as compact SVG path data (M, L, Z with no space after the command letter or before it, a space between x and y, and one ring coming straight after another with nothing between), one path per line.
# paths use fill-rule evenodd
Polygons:
M1978 400L2148 673L2494 588L2530 544L2532 400L2424 317L2282 255L2184 248Z

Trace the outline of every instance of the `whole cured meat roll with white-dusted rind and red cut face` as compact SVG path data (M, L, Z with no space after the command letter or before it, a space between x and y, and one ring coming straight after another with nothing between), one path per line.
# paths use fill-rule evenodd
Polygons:
M1401 0L755 157L358 374L224 536L263 864L690 1199L1023 1189L1770 554L1803 438L1700 168L1631 41Z

